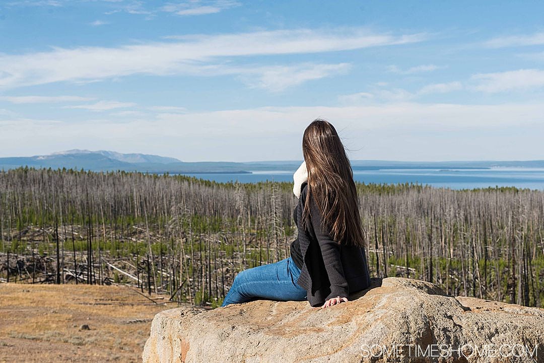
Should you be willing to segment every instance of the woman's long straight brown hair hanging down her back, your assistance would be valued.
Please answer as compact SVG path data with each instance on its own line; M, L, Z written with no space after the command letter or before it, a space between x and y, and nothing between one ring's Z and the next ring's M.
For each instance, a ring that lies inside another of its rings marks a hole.
M366 247L353 170L332 124L320 119L310 123L302 137L302 154L308 170L302 220L311 215L309 201L313 198L322 215L322 226L329 229L333 240Z

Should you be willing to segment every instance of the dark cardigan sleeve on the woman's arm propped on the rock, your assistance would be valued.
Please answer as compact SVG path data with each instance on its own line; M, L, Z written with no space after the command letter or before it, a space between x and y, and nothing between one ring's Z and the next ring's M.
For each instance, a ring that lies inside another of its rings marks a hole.
M330 230L326 226L321 226L322 215L319 212L316 202L313 200L313 198L310 199L312 226L319 242L323 262L327 270L327 276L329 276L329 282L331 283L331 293L325 298L325 300L337 296L347 298L349 296L349 286L344 277L344 268L340 258L340 245L338 242L332 239Z

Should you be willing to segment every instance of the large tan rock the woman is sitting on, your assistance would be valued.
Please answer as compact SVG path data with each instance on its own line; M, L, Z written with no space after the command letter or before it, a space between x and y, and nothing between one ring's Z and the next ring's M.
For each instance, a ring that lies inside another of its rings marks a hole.
M544 362L544 309L451 297L420 280L372 283L325 309L258 300L160 312L144 363Z

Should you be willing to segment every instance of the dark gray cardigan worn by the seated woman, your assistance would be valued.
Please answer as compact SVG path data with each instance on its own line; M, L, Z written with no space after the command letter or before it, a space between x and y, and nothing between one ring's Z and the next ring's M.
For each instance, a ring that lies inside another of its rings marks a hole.
M329 230L321 226L321 214L313 198L310 198L311 218L308 218L305 230L302 211L307 184L301 185L296 208L298 242L304 260L296 282L307 291L311 306L321 306L332 297L348 297L350 293L367 289L370 273L363 247L339 244L332 240Z

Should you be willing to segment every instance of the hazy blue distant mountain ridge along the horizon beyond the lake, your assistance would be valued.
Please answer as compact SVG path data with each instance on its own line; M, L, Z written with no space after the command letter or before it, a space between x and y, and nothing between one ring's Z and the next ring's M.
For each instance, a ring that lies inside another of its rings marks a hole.
M115 151L89 151L72 149L49 155L33 157L0 158L0 170L9 170L21 166L35 168L67 168L90 171L137 171L149 173L251 173L291 171L294 172L302 160L268 160L250 162L197 161L184 162L176 158L159 155ZM380 169L424 169L424 168L491 168L491 167L534 167L544 168L544 160L511 161L394 161L394 160L351 160L354 171Z

